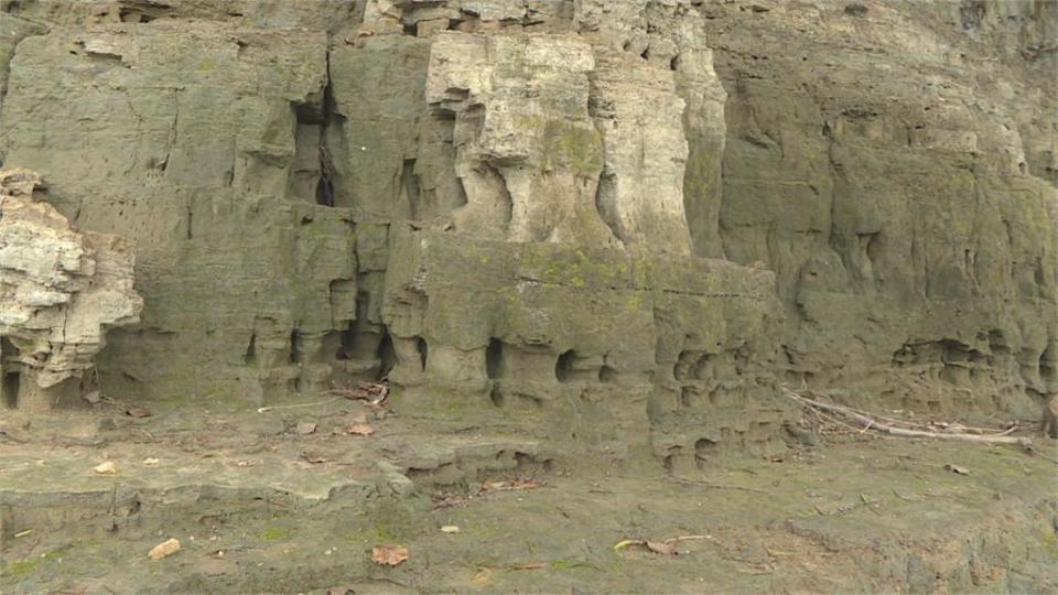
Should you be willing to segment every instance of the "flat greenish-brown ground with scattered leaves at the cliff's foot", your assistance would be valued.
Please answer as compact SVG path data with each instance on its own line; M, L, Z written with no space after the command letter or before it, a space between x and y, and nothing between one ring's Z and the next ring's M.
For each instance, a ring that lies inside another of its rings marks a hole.
M3 419L0 592L1058 592L1058 465L1013 446L839 436L673 478L348 401L151 413Z

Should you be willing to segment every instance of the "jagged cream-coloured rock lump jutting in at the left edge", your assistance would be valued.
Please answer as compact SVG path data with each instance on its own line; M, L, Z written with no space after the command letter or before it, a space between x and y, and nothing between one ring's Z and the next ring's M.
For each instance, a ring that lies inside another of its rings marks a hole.
M90 369L107 329L139 322L143 307L132 289L131 246L72 229L34 196L41 185L34 172L0 170L0 370L8 403ZM17 392L12 376L36 387Z

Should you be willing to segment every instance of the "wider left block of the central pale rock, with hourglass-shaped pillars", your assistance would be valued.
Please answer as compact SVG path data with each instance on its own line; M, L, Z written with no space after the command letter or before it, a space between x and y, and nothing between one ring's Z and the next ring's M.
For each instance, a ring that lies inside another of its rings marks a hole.
M616 245L595 209L603 167L587 113L591 46L571 36L443 33L427 101L455 113L467 204L456 229L512 241Z

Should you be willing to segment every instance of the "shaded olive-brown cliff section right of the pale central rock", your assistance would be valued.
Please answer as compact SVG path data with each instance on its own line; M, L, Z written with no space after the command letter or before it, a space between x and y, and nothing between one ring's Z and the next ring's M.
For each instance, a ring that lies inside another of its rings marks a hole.
M702 7L730 94L719 242L776 271L788 380L1035 415L1058 382L1058 4L758 4Z

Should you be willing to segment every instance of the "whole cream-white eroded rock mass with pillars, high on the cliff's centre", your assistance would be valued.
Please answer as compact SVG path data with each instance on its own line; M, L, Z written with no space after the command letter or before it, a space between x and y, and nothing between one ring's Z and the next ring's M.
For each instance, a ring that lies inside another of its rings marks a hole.
M649 43L644 60L572 34L439 34L425 94L456 116L456 229L689 255L679 47Z

